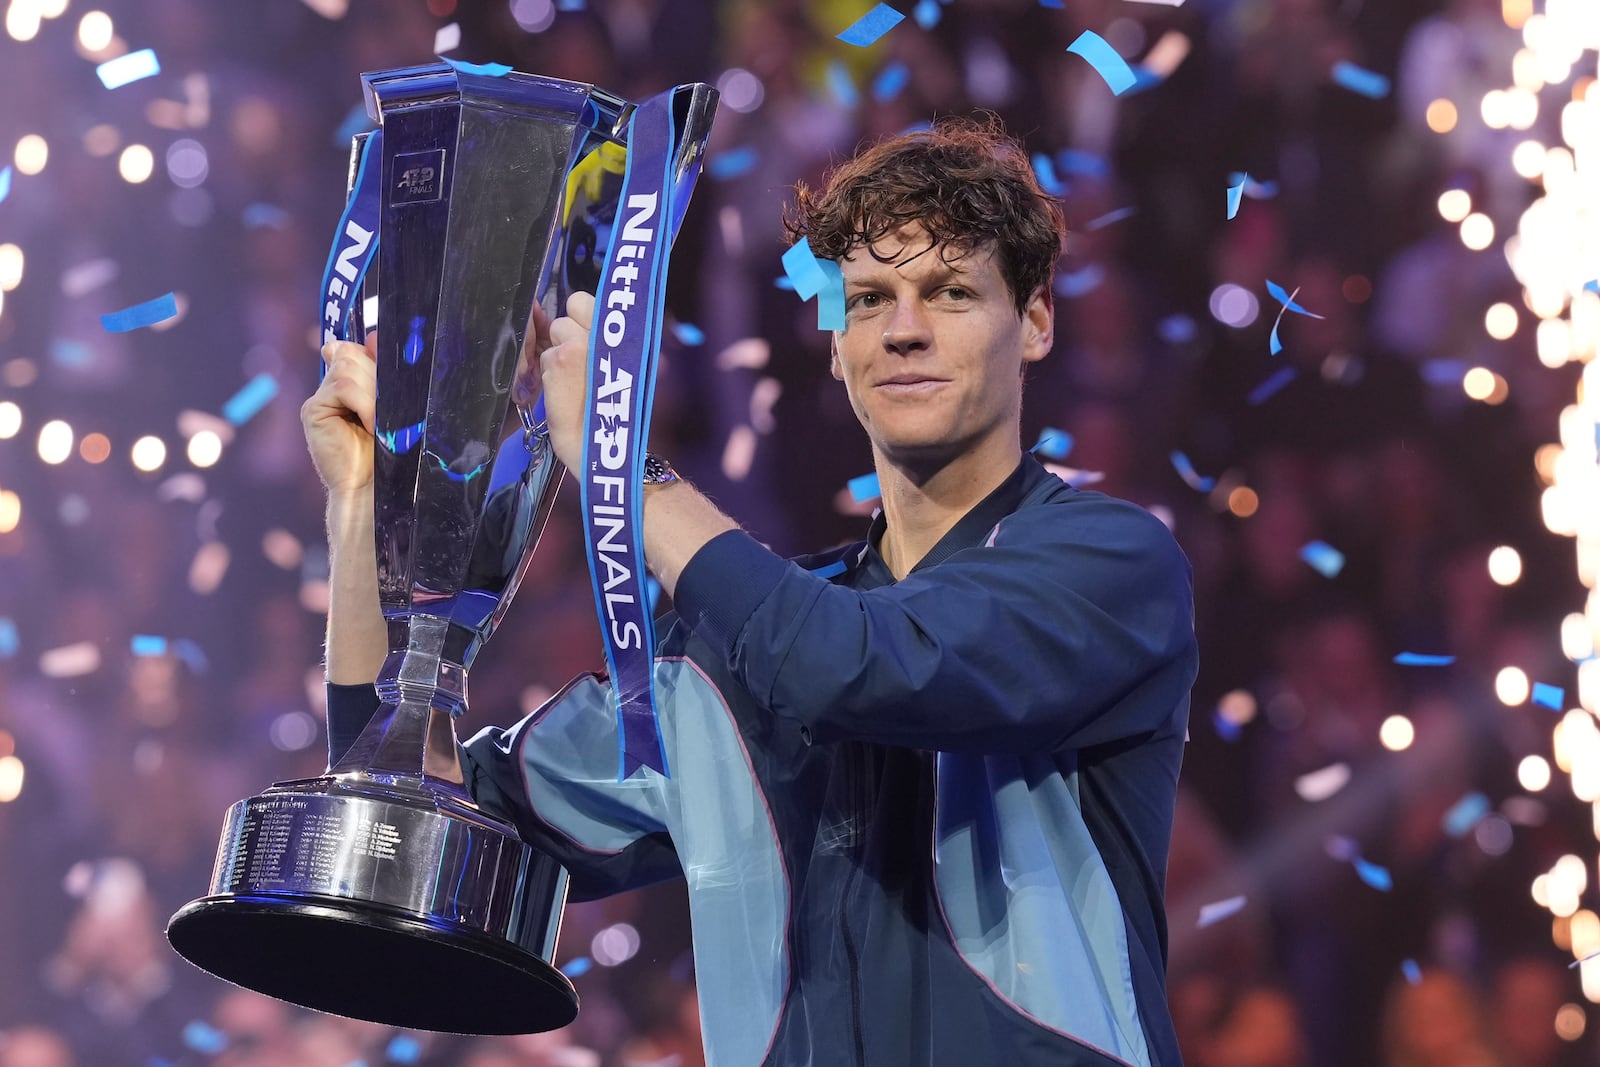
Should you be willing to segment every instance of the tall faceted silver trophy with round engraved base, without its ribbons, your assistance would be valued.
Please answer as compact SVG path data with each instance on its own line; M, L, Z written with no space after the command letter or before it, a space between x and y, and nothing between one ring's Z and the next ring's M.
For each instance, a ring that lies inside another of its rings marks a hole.
M560 483L542 427L525 413L518 424L510 403L531 307L595 290L634 104L446 64L362 80L382 133L365 290L382 326L381 705L323 776L227 811L210 893L166 933L202 969L307 1008L456 1033L549 1030L578 1013L552 966L566 872L472 801L453 723ZM675 224L717 94L686 85L670 101Z

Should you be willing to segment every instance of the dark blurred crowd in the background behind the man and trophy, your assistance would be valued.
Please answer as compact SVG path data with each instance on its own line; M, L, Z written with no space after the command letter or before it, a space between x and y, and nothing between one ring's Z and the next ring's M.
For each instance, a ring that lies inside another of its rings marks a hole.
M157 50L158 77L104 90L77 5L0 40L0 144L50 142L0 202L0 242L26 254L0 312L0 400L24 413L0 440L22 509L0 531L0 757L26 768L0 792L0 1067L702 1062L675 885L568 909L558 961L582 1011L526 1038L288 1008L162 936L203 894L227 805L323 768L322 499L298 422L315 288L365 128L357 75L435 48L632 99L723 90L672 261L656 450L784 552L859 537L872 509L845 488L870 454L827 336L774 285L787 189L864 139L1000 115L1072 227L1026 443L1070 437L1051 461L1162 515L1195 571L1168 880L1186 1061L1595 1062L1600 1017L1528 891L1563 853L1594 854L1590 816L1560 781L1518 782L1555 717L1494 685L1518 667L1573 688L1557 625L1582 590L1539 523L1534 466L1573 374L1541 366L1528 330L1486 336L1483 309L1517 304L1517 283L1434 206L1466 189L1510 232L1534 195L1509 170L1515 138L1475 120L1518 46L1499 0L901 0L912 18L869 48L834 37L862 0L99 6L128 48ZM459 43L435 37L450 26ZM1083 30L1144 58L1136 90L1114 96L1066 51ZM1392 91L1339 85L1341 61ZM1440 98L1461 112L1443 134L1424 123ZM179 141L200 146L202 181L160 165ZM149 181L118 176L134 142L155 152ZM1278 320L1267 280L1315 317ZM101 328L170 290L176 323ZM1504 392L1467 398L1467 366ZM186 462L179 427L216 422L262 373L277 398L219 462ZM42 462L46 419L106 434L110 459ZM146 434L168 442L158 470L126 462ZM600 664L576 530L568 501L474 669L462 734ZM1312 566L1310 542L1338 565ZM1496 545L1520 553L1512 584L1490 576ZM1381 741L1392 717L1410 745ZM1306 787L1336 765L1339 787ZM1462 827L1470 795L1485 811ZM634 952L600 952L618 929ZM362 981L360 960L306 966Z

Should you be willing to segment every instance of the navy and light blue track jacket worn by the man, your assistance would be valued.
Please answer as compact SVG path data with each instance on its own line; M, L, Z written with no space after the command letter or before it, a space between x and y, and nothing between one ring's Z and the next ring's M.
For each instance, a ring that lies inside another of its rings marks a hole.
M466 744L474 797L576 899L686 880L712 1067L1178 1067L1187 560L1030 456L898 582L882 530L694 555L656 662L670 779L616 781L584 675ZM330 688L334 721L374 707Z

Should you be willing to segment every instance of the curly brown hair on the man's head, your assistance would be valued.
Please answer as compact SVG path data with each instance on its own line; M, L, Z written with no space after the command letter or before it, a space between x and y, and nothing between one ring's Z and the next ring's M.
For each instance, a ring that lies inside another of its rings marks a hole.
M920 224L946 262L990 243L1018 315L1050 285L1066 238L1061 205L1034 178L1027 150L1000 120L941 118L835 166L821 192L795 184L784 211L792 242L808 237L822 259L843 259L907 222Z

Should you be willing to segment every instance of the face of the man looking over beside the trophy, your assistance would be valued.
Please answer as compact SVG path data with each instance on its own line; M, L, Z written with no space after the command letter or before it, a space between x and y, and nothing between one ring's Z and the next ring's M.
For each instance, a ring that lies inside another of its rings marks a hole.
M944 262L907 226L840 262L845 330L834 378L880 462L942 467L973 456L1016 462L1022 366L1050 352L1054 310L1040 290L1022 315L995 248Z

